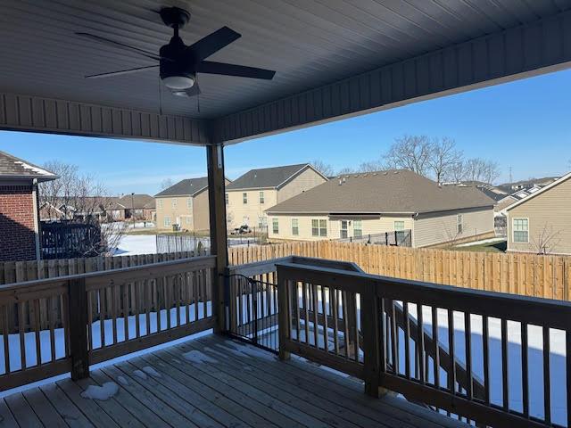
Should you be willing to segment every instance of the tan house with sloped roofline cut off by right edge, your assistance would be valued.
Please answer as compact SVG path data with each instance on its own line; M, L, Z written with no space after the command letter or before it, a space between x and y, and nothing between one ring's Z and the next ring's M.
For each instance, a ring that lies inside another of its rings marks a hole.
M508 251L571 254L571 172L505 212Z

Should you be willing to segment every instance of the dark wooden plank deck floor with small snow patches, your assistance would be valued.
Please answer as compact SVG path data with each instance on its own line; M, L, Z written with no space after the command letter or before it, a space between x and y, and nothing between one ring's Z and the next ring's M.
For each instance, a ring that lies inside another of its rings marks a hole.
M106 400L81 396L114 382ZM0 400L0 426L467 426L402 399L371 399L360 383L301 359L210 335Z

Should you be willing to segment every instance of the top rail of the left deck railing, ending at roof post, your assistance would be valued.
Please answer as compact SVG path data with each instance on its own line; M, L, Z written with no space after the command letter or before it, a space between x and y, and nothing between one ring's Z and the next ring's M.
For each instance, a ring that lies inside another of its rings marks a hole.
M150 270L156 269L167 269L167 270L180 270L179 268L185 266L201 266L203 268L214 268L216 264L216 257L215 256L199 256L199 257L190 257L187 259L177 259L177 260L169 260L169 261L161 261L159 263L151 263L147 265L140 265L140 266L132 266L129 268L118 268L118 269L111 269L111 270L100 270L96 272L89 272L84 274L76 274L76 275L68 275L68 276L56 276L54 278L46 278L46 279L35 279L32 281L25 281L21 283L12 283L12 284L4 284L0 285L0 292L11 291L11 290L21 290L24 288L29 287L37 287L46 284L60 284L65 283L70 280L77 280L77 279L86 279L89 280L91 278L107 278L109 276L128 276L129 274L133 274L135 272L147 272ZM172 269L170 269L172 268Z

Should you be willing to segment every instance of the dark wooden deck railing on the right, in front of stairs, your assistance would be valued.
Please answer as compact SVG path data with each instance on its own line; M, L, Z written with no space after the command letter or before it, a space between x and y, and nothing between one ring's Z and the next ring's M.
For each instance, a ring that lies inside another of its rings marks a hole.
M571 426L568 303L295 263L277 278L281 358L480 425Z

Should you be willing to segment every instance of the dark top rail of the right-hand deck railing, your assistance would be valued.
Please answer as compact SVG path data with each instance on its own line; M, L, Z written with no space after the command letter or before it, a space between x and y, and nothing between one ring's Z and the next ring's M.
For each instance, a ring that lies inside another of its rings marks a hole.
M359 292L358 290L363 289L367 284L373 284L377 295L386 299L418 302L426 306L488 317L509 317L514 321L562 330L571 327L571 302L567 301L503 292L468 290L451 285L430 284L294 263L278 263L277 267L288 279L314 281L315 284L331 285L352 292Z

